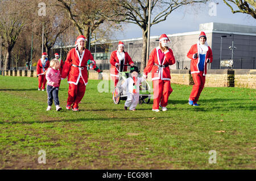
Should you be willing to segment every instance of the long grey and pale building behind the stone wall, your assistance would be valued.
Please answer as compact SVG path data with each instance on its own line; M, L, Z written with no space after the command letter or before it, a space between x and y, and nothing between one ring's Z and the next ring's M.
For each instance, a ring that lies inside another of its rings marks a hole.
M199 31L167 34L171 41L170 48L173 50L176 59L176 64L172 65L171 69L190 69L190 60L187 58L187 53L191 45L197 43L201 31L206 33L207 43L213 52L213 62L209 64L209 69L256 69L256 26L226 23L204 23L200 24ZM150 37L150 52L159 45L159 36ZM135 64L140 65L142 38L120 41L125 44L125 51L130 54ZM118 42L119 40L92 44L90 51L96 63L108 65L110 54L117 49ZM232 59L232 48L233 64L230 61ZM57 52L59 49L59 47L56 49ZM65 56L63 60L65 60ZM105 67L108 68L108 66Z

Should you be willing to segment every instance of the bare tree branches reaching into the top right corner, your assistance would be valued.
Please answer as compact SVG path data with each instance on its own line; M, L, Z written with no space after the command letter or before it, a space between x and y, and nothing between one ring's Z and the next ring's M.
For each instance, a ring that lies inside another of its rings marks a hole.
M242 12L256 19L256 0L223 0L233 13ZM237 10L235 8L238 8Z

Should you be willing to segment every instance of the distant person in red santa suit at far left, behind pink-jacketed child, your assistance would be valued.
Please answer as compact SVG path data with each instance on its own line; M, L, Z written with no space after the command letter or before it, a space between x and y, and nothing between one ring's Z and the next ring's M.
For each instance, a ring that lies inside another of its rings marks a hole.
M36 65L36 73L38 74L38 90L40 91L42 87L42 91L46 89L46 70L49 68L49 61L47 60L47 53L42 53L42 58L38 60L38 64ZM43 85L43 86L42 86Z

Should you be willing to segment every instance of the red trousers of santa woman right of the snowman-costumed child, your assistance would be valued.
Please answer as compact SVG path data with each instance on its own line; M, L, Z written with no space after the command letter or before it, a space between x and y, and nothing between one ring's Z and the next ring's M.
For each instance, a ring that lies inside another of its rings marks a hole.
M154 102L152 109L159 109L159 103L161 106L166 107L168 104L168 98L172 92L171 82L163 80L154 80L152 82L154 90Z

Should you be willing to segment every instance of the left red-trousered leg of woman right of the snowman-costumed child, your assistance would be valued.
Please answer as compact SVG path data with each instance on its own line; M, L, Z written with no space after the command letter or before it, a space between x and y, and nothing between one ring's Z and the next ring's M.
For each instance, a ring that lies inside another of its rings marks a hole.
M154 101L153 101L153 110L159 109L159 103L163 95L163 81L155 80L153 82L153 90L154 90Z

